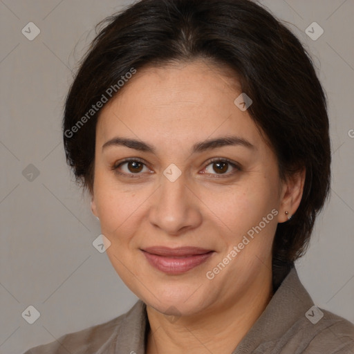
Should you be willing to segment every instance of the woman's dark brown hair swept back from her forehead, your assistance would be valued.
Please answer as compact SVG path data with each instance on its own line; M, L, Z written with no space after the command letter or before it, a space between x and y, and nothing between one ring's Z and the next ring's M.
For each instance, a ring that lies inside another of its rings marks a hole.
M64 146L77 180L92 192L100 109L90 109L102 95L115 97L118 81L132 68L202 57L237 75L253 101L248 112L277 155L281 178L306 168L299 208L277 226L273 264L304 254L329 192L330 139L326 96L297 37L249 0L142 0L99 25L66 97Z

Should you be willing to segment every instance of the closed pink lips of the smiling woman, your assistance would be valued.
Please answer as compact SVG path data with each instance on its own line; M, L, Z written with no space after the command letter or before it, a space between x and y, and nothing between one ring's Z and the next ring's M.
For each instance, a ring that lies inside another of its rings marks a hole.
M181 274L205 262L214 251L197 247L167 248L162 246L142 250L153 267L167 274Z

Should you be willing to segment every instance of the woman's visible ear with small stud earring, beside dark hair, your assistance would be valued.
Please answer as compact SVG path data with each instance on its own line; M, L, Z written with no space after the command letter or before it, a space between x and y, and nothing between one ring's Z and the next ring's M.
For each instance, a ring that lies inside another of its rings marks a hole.
M306 177L305 167L286 177L281 187L278 223L288 221L300 205ZM288 214L286 214L288 212Z

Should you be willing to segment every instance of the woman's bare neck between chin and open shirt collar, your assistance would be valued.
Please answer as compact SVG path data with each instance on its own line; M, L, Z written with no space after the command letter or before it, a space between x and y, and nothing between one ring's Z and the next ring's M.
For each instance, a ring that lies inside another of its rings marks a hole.
M150 330L147 354L232 353L272 298L272 273L259 273L252 286L237 301L230 299L203 313L167 317L147 306Z

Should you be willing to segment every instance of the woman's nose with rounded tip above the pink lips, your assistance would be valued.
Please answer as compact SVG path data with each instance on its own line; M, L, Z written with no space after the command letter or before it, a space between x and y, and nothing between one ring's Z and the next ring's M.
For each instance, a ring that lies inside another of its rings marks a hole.
M149 221L165 234L179 236L201 225L201 201L181 174L174 182L164 175L151 202Z

